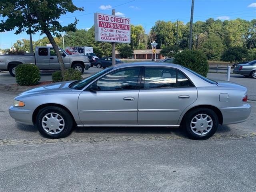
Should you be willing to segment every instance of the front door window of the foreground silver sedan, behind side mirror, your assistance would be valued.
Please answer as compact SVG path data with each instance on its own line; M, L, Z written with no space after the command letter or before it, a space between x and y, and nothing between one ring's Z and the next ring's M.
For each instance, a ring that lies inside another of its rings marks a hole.
M97 82L99 90L131 90L135 89L140 68L126 68L112 72Z

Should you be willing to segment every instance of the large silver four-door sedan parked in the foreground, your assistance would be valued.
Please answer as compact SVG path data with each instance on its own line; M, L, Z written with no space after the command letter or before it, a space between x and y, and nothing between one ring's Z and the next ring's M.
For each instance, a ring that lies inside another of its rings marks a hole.
M183 127L192 139L207 139L218 124L245 121L247 89L215 82L176 64L133 63L108 67L84 80L60 82L14 98L10 116L34 125L48 138L63 138L73 126Z

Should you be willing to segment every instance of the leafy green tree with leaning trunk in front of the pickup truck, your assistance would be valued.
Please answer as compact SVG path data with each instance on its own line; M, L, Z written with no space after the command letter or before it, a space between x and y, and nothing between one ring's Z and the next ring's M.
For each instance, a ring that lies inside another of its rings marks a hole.
M58 36L60 32L75 31L76 18L75 22L68 26L62 26L58 19L66 12L84 9L76 7L72 0L0 0L0 4L0 15L5 18L0 22L0 32L17 28L15 34L24 31L27 34L35 32L46 34L57 54L62 77L64 77L64 62L51 32Z

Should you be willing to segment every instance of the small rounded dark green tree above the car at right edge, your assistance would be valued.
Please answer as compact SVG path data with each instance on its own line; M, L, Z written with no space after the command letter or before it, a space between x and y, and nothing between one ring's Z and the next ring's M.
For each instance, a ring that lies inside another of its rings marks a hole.
M248 56L248 50L243 47L230 47L222 55L223 61L242 62Z

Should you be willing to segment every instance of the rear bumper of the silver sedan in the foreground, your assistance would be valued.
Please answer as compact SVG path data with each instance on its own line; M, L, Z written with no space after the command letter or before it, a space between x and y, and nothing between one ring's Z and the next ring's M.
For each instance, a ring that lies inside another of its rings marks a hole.
M219 109L223 116L223 125L244 122L251 113L251 106L248 103L244 103L243 106L240 107L225 107Z

